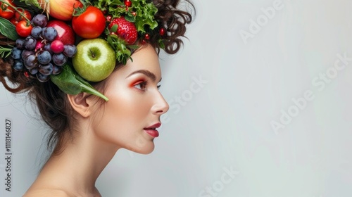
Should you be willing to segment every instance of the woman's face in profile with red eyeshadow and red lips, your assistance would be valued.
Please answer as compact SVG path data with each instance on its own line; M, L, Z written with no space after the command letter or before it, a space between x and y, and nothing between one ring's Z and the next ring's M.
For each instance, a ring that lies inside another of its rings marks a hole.
M156 127L169 106L158 91L161 68L155 49L142 46L132 59L108 77L109 101L97 107L92 127L99 139L146 154L153 151Z

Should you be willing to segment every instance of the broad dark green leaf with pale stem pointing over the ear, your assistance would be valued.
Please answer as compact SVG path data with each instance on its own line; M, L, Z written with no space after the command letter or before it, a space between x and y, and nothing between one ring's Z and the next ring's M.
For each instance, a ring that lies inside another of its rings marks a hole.
M66 94L80 94L87 92L103 98L108 101L108 98L94 89L91 84L78 75L70 65L63 65L63 71L58 75L50 75L51 82L56 84Z

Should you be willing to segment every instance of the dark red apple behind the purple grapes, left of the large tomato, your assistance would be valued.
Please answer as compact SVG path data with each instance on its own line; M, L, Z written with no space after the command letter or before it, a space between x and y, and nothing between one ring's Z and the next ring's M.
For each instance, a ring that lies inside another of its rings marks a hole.
M62 20L50 20L46 27L54 27L58 32L55 39L60 40L64 45L75 44L75 32L73 32L73 28Z

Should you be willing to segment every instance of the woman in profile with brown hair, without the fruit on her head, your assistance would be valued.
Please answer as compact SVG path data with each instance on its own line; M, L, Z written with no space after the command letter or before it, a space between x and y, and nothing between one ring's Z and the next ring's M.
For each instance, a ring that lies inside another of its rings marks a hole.
M162 38L167 53L180 49L180 37L191 22L191 14L177 9L178 3L153 1L158 8L154 18L164 26L159 32L165 30ZM24 196L101 196L96 179L118 149L153 151L168 103L158 91L160 35L151 32L149 36L137 40L139 49L132 50L125 65L118 62L106 80L90 82L107 102L85 91L66 94L52 80L39 82L13 69L11 56L0 59L4 87L13 93L28 91L53 130L48 141L52 154ZM8 86L6 78L16 87Z

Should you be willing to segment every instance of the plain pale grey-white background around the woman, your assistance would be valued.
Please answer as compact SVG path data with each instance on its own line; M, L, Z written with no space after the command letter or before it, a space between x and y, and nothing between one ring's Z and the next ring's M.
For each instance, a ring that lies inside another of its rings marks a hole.
M275 2L268 18L263 10ZM352 196L352 61L334 68L337 54L352 58L352 1L194 3L183 50L161 55L170 110L156 149L118 151L97 181L101 194ZM244 31L251 37L243 39ZM1 184L0 196L21 196L45 160L45 127L25 95L0 91L1 127L13 120L13 191ZM284 128L275 132L272 121ZM1 159L1 175L4 165Z

